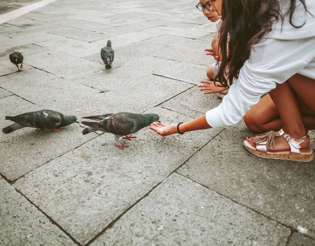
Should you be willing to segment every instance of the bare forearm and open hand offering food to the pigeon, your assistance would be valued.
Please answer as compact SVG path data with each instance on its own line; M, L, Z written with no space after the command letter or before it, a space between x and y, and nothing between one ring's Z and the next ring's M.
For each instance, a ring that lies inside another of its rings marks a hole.
M167 125L165 123L154 122L151 125L149 125L149 128L155 131L157 134L165 137L170 134L178 133L177 125L178 123ZM181 133L208 128L211 128L211 126L209 126L209 124L207 123L205 114L197 117L196 119L179 125L179 131Z

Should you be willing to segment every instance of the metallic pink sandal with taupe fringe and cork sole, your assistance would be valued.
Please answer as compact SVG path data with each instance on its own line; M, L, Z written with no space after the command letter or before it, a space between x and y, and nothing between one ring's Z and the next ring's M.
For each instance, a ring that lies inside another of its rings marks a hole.
M268 151L269 147L275 148L275 139L282 136L290 146L290 150L285 151ZM309 162L313 159L313 150L311 147L301 149L300 144L309 138L306 133L303 137L294 139L286 134L283 129L278 132L270 131L265 134L256 135L253 142L256 147L252 146L249 141L245 140L246 149L256 156L272 159L293 160L299 162Z

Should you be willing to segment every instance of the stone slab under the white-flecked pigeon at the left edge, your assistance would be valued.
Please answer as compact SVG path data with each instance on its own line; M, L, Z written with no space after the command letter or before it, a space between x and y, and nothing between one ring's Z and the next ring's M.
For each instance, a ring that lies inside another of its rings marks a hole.
M17 107L18 105L18 107ZM0 99L2 116L0 125L9 126L13 122L4 116L15 116L42 108L15 95ZM58 108L50 108L67 114ZM82 135L78 124L65 127L60 132L36 131L35 128L23 128L9 134L1 132L0 173L13 181L22 175L42 166L49 160L74 149L93 139L97 134Z

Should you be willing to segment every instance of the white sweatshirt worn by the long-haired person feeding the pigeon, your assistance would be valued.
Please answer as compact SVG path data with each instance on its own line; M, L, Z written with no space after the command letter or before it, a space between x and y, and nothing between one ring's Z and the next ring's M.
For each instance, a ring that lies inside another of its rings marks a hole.
M281 5L287 9L289 1ZM222 103L206 112L211 127L231 126L238 123L262 94L284 83L296 73L315 79L315 0L305 0L307 10L297 1L294 24L286 16L281 30L281 20L274 23L272 31L253 46L250 57L240 70ZM315 96L315 95L314 95Z

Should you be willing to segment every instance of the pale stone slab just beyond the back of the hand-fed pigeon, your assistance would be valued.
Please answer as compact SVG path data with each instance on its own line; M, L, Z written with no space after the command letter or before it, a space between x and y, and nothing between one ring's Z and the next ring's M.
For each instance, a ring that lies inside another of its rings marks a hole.
M155 90L152 91L148 84L154 84ZM63 110L73 112L77 117L114 112L141 113L185 91L191 84L149 75L133 83L116 84L114 87L115 90L77 100Z

